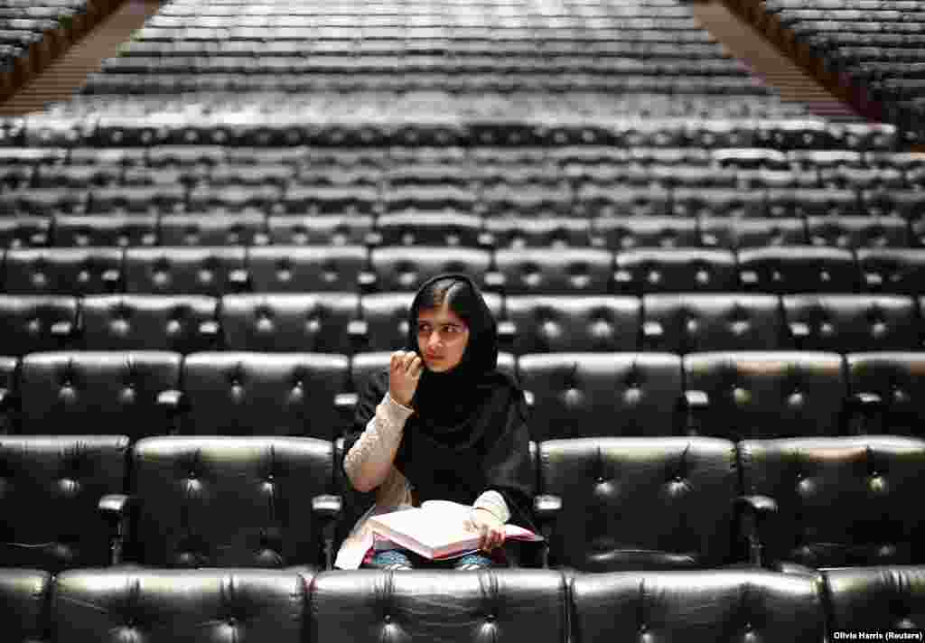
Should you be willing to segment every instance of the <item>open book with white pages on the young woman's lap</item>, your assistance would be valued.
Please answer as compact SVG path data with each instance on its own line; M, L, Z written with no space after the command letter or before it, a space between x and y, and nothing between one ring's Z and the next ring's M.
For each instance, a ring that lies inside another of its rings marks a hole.
M471 510L458 502L425 501L420 507L372 516L369 525L376 533L376 549L386 539L427 559L457 558L478 550L479 534L468 526ZM543 539L516 525L505 525L504 531L513 540Z

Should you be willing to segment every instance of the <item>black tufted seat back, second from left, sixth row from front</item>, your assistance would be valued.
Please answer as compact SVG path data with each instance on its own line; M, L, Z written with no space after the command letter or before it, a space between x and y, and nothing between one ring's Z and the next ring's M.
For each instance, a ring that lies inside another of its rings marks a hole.
M153 246L158 243L157 216L57 216L52 241L60 248Z

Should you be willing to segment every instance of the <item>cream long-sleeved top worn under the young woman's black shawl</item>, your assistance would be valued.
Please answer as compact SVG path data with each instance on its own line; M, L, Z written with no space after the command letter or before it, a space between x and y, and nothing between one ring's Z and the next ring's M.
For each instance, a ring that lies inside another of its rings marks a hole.
M413 409L402 406L386 393L376 406L376 414L366 424L360 438L344 457L344 471L358 491L376 489L376 503L353 526L344 539L335 565L341 569L355 568L372 545L372 530L366 520L379 513L399 511L412 506L412 488L407 478L395 467L395 454L401 444L401 433ZM492 513L501 523L511 517L507 502L498 491L488 489L475 502L473 509Z

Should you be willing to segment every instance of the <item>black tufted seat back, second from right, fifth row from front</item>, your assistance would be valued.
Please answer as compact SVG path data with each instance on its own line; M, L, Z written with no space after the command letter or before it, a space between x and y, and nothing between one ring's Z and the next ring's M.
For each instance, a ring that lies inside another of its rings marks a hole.
M855 292L854 255L842 248L788 246L739 253L739 278L752 291L779 294Z

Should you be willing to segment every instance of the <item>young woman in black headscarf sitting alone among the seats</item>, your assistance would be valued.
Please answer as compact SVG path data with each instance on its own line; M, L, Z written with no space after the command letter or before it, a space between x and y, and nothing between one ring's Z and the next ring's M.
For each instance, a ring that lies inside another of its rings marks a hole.
M360 511L344 547L368 542L365 519L428 500L472 506L479 551L432 563L475 569L511 562L504 524L533 528L524 392L498 370L497 325L473 280L441 275L425 282L409 313L405 350L372 377L347 436L344 472ZM386 569L425 560L401 549L369 550L364 564Z

